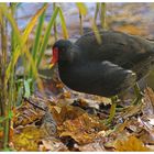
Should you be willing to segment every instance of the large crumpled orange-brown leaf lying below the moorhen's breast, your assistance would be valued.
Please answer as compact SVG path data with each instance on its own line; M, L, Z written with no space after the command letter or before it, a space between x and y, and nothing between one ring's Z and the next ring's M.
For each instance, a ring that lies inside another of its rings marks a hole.
M61 116L64 122L57 128L59 136L72 136L79 144L91 142L98 130L105 129L96 117L88 116L78 107L65 106Z

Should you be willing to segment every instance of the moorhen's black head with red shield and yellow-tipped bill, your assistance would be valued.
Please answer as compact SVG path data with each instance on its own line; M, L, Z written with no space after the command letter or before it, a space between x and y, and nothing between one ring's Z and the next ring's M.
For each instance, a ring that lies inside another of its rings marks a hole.
M68 40L59 40L53 46L52 64L56 64L59 61L67 61L68 50L72 47L72 42Z

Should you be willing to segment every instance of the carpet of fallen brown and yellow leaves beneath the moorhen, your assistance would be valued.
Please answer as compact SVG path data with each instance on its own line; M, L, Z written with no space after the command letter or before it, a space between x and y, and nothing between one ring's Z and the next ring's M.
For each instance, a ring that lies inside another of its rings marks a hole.
M74 92L65 87L55 101L40 96L30 98L35 106L24 101L14 112L10 145L16 151L154 150L154 91L151 88L145 89L142 103L135 107L131 101L120 100L121 109L110 125L103 123L111 103L108 98Z

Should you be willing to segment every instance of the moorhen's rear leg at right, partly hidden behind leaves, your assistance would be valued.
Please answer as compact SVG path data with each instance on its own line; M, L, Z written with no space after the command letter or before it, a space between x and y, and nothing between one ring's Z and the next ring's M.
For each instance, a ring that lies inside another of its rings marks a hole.
M135 82L135 85L134 85L134 94L135 94L136 98L132 101L132 105L138 105L141 102L141 99L143 97L138 82Z

